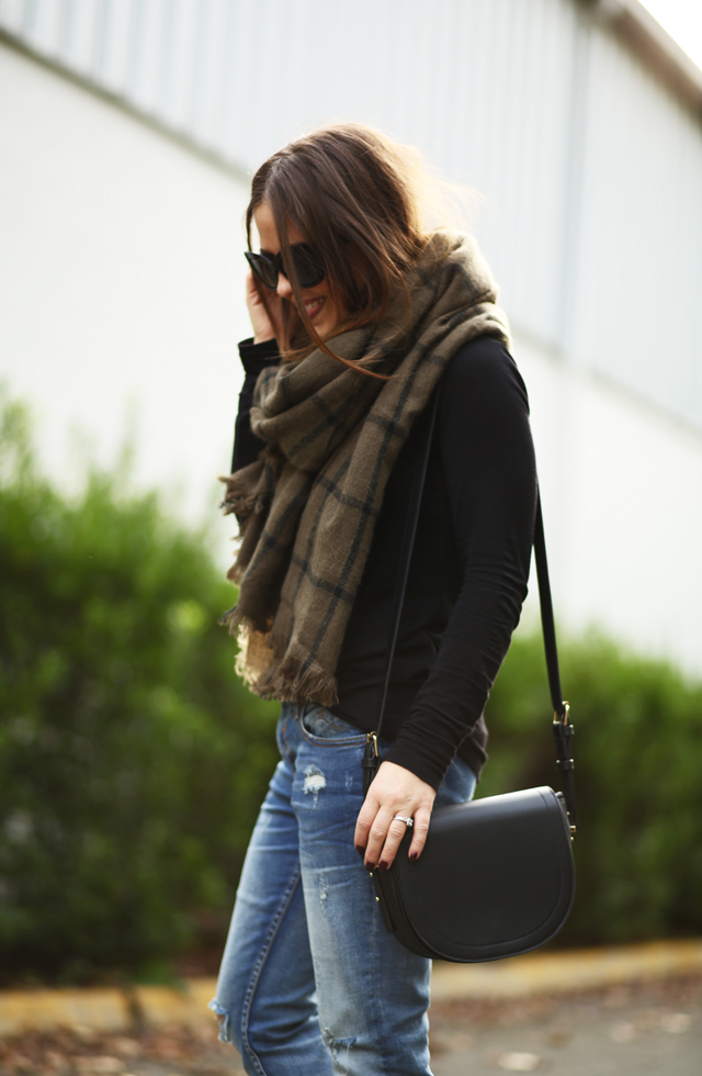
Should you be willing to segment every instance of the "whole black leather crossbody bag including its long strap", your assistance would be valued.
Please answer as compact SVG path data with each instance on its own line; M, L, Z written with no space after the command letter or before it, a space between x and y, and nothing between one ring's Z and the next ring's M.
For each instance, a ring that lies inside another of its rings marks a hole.
M424 412L419 462L410 493L390 617L385 677L376 731L363 754L364 793L381 764L383 726L393 658L417 531L439 393ZM376 900L386 929L412 953L468 964L516 956L542 945L564 924L575 894L571 840L577 826L568 704L562 700L558 654L541 513L536 503L534 553L548 685L554 708L556 766L563 794L525 788L466 804L439 807L424 849L408 856L408 827L395 861L374 871Z

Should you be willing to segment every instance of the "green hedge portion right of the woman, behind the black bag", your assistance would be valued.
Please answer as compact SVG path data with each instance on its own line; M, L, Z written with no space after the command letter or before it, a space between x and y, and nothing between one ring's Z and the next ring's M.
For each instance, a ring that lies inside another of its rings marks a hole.
M567 640L579 832L559 944L702 934L702 684L597 636ZM540 636L514 639L486 719L479 794L558 787Z

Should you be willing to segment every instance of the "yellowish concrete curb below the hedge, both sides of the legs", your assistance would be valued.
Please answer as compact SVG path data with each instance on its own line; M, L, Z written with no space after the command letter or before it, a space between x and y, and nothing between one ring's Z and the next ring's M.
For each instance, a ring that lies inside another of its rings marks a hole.
M489 964L435 963L433 1001L567 994L622 983L702 974L702 940L649 942L612 949L528 953ZM0 991L0 1035L67 1027L128 1032L135 1025L215 1021L207 1004L215 978L189 979L182 990L135 986L129 990Z

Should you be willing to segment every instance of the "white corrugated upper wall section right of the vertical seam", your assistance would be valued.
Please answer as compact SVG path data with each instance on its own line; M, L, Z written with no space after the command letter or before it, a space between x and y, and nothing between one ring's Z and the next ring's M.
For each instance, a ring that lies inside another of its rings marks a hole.
M702 422L702 131L592 41L573 354Z

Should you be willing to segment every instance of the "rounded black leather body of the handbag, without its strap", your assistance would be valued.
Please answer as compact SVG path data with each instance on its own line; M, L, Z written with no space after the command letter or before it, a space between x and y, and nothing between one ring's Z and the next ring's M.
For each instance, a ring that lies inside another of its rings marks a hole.
M410 840L407 833L389 873L412 931L445 960L526 952L570 910L570 832L547 786L438 808L415 863Z

